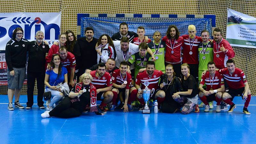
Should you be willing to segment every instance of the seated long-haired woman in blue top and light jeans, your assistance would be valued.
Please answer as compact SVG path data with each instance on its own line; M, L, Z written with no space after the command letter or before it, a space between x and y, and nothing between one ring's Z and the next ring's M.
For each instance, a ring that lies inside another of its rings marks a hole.
M52 67L52 70L47 69L44 78L44 84L46 85L45 92L51 91L52 95L52 100L46 107L48 111L51 111L53 109L53 104L55 103L55 105L57 105L63 96L63 93L56 86L61 82L68 82L68 71L65 67L61 67L59 54L52 55L50 66Z

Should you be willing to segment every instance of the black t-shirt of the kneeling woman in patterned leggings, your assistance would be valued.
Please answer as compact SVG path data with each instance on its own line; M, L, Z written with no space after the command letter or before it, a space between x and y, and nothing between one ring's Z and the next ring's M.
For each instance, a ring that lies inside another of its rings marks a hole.
M182 82L182 87L184 92L187 92L189 89L192 89L191 95L184 95L185 97L193 98L198 94L197 83L194 76L189 75L186 80L184 80L184 76L183 76L181 79L181 82Z

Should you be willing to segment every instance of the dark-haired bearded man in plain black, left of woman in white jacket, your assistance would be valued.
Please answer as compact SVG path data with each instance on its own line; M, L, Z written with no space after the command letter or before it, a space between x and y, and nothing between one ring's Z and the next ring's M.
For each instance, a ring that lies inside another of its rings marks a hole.
M75 48L78 50L77 56L79 57L77 61L80 63L77 77L81 76L86 68L91 68L93 65L97 64L95 46L98 39L93 37L94 31L92 27L87 27L84 33L85 37L78 38L75 45Z

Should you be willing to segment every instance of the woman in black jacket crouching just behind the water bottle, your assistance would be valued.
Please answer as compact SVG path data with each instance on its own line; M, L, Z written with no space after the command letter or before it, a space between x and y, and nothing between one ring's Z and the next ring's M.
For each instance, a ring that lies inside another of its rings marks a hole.
M160 89L165 92L165 99L162 102L161 110L163 113L175 113L179 111L180 104L173 100L172 95L176 92L182 92L183 88L179 77L175 76L173 66L167 64L165 73L160 79Z

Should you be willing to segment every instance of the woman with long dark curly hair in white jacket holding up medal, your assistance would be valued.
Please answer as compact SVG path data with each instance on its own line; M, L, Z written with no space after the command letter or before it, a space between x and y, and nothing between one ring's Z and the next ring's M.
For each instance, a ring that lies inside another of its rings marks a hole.
M107 35L103 34L100 36L98 43L96 44L96 51L98 53L98 63L106 63L109 58L115 59L115 50L112 39Z

